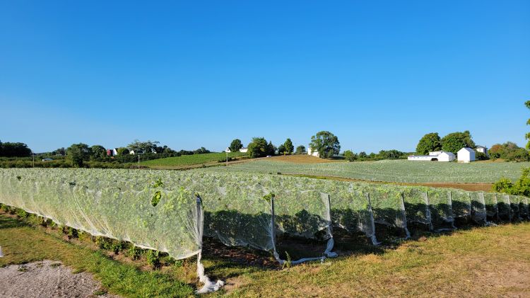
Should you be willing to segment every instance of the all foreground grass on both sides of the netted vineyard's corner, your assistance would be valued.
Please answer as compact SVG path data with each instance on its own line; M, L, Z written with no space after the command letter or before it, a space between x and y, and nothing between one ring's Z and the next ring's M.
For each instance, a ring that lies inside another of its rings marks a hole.
M194 263L143 271L0 215L0 266L61 260L124 297L192 295ZM207 256L227 286L206 297L524 297L530 292L530 223L432 234L374 248L336 239L340 258L283 270ZM181 281L179 281L181 280ZM183 281L182 281L183 280Z

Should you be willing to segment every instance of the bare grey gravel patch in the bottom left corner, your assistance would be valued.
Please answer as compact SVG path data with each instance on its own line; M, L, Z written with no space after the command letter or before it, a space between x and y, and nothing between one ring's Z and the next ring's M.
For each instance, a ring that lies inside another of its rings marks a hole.
M59 262L44 260L0 268L0 297L118 296L101 291L100 282L89 273L74 274Z

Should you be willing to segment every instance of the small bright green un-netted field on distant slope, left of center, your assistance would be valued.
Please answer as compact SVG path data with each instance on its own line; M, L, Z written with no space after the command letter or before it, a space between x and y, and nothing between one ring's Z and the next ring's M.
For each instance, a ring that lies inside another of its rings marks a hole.
M237 157L246 156L247 154L241 152L231 152L228 157L236 159ZM205 153L205 154L193 154L183 155L177 157L167 157L165 159L153 159L151 161L141 161L141 166L148 167L179 167L179 166L194 166L201 164L217 163L220 160L225 160L226 154L220 153Z

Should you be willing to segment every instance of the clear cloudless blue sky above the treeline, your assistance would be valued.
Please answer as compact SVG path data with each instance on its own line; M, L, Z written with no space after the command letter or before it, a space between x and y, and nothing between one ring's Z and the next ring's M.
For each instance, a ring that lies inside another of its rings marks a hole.
M0 1L0 139L524 145L530 1ZM153 2L153 3L151 3Z

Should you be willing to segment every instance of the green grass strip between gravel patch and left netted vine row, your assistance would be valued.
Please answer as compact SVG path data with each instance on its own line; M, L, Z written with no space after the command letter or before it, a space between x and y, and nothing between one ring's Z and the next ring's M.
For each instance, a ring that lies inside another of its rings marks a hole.
M5 255L0 258L0 267L38 260L59 260L73 268L74 272L93 273L109 292L125 297L194 295L192 285L175 280L172 275L120 263L101 251L62 241L5 215L0 215L0 246Z

